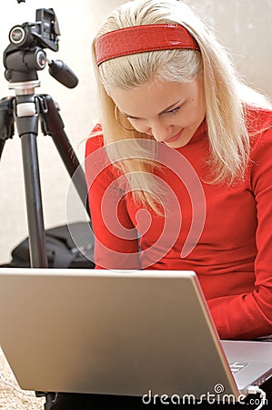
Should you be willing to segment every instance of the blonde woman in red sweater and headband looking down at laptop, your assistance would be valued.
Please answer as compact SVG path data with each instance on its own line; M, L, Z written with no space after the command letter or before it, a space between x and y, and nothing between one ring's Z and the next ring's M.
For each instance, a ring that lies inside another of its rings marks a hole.
M96 268L193 270L222 339L272 333L271 104L176 0L121 6L93 55Z

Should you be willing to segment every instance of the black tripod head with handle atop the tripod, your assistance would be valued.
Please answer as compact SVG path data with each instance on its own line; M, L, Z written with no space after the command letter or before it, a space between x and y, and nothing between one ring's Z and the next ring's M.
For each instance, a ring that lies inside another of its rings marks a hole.
M14 26L9 32L10 44L5 48L5 78L10 88L24 89L39 86L37 71L48 63L49 74L65 87L76 87L78 80L73 71L61 60L49 61L45 48L58 51L60 36L53 8L36 10L35 23Z

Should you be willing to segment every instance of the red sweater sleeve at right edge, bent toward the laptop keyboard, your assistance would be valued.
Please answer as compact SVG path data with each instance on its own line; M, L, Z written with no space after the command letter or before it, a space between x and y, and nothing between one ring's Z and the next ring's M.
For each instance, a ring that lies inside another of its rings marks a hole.
M263 133L251 158L251 190L257 204L254 290L207 301L222 339L272 333L272 128Z

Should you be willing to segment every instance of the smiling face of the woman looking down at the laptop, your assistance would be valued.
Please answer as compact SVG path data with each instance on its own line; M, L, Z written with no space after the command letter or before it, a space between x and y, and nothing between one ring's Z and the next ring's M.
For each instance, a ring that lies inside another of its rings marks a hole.
M139 132L171 148L185 146L206 116L203 80L189 83L148 82L110 95L117 108Z

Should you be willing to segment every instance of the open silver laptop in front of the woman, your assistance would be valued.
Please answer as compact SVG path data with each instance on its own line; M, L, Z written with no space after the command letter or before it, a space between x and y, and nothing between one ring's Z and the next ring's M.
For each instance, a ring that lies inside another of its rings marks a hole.
M43 392L239 400L272 374L272 343L219 340L194 272L2 268L0 345Z

